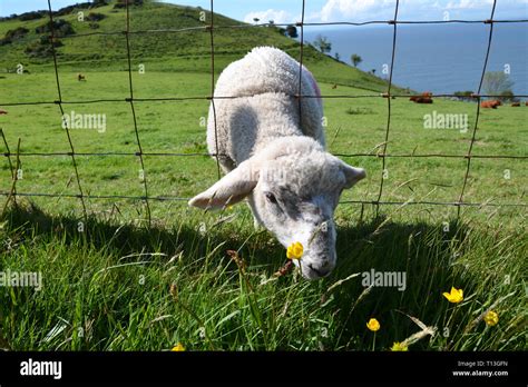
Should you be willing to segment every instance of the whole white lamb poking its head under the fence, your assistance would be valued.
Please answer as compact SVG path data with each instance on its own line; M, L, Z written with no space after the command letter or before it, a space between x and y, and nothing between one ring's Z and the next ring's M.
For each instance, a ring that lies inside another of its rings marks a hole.
M300 63L271 47L254 48L222 72L207 145L227 175L189 205L214 209L246 198L256 225L284 247L303 245L294 262L305 278L316 279L335 267L333 214L341 192L365 171L325 151L317 83L303 67L301 95L313 97L301 98L300 109L299 78Z

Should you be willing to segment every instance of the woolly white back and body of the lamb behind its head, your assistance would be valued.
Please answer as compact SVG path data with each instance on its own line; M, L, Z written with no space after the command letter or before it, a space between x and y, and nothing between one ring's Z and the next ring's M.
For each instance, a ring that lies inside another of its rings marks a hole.
M222 72L214 93L217 98L215 113L218 139L216 141L211 107L207 143L209 152L215 152L218 146L219 153L234 158L221 159L225 163L224 169L231 170L232 161L237 163L241 157L247 157L248 149L254 148L252 141L270 138L270 133L252 132L256 128L276 132L277 126L289 122L295 128L285 129L283 136L291 136L295 129L299 130L299 99L295 96L299 93L300 67L296 60L276 48L257 47ZM320 96L313 76L304 67L301 93ZM280 109L274 109L277 103ZM313 137L324 145L321 99L303 98L301 112L300 135ZM289 117L277 116L282 113Z

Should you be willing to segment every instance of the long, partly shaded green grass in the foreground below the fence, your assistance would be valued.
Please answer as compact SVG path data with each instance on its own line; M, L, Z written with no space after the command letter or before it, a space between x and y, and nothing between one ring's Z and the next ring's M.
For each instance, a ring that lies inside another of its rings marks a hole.
M247 215L218 225L217 217L188 214L150 230L94 219L79 234L76 219L13 209L3 227L10 249L3 244L2 266L41 271L43 287L0 294L4 340L23 350L166 350L176 343L192 350L371 350L365 324L375 317L375 349L385 350L420 330L407 314L438 328L411 350L526 345L520 230L505 238L467 224L452 222L444 232L412 219L354 222L339 229L336 271L310 282L273 277L284 250L270 235L253 232ZM245 272L226 249L238 251ZM365 294L361 276L339 284L371 268L405 271L407 289ZM451 286L463 288L463 302L442 297ZM472 325L501 298L493 307L498 326Z

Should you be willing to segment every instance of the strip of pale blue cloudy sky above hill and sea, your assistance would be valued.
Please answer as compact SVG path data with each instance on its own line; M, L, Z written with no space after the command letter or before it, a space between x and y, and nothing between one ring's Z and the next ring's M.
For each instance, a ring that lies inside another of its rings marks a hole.
M53 9L84 0L51 0ZM209 0L163 0L208 9ZM305 22L390 20L395 0L305 0ZM492 0L400 0L400 20L485 20ZM47 0L0 0L0 16L47 9ZM301 20L302 0L214 0L216 12L253 22ZM497 0L496 19L528 19L528 0Z

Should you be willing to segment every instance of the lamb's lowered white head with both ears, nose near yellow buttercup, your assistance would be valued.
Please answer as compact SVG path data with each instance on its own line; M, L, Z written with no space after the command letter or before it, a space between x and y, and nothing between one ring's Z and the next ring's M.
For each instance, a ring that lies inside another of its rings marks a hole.
M343 189L365 177L327 153L315 141L282 141L242 162L189 201L201 208L222 208L246 198L255 219L289 247L301 242L294 264L305 278L329 275L336 264L333 215Z

